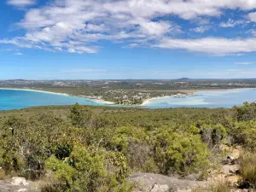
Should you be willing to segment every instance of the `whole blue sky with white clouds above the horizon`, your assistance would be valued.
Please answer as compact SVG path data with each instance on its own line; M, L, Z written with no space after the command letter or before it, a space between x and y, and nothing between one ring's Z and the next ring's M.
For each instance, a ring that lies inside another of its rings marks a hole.
M0 79L256 78L256 0L1 0Z

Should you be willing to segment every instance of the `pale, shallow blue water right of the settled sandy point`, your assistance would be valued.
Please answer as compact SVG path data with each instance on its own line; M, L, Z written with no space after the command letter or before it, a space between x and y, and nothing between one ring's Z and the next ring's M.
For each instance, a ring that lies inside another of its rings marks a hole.
M256 89L212 90L196 92L195 96L157 98L146 108L232 108L255 101Z

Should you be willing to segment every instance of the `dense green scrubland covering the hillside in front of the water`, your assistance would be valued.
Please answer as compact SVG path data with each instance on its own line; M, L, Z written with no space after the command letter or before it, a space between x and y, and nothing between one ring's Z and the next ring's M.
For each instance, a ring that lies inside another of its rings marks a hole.
M134 172L204 180L221 146L240 146L241 180L256 182L256 104L218 108L40 107L0 113L0 179L42 191L131 191ZM221 186L210 191L230 191Z

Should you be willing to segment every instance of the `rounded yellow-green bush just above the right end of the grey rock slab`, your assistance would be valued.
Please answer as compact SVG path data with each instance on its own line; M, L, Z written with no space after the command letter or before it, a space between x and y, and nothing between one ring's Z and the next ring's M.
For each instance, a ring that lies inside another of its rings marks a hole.
M201 137L160 130L154 143L154 160L160 173L179 173L205 171L209 165L207 145Z

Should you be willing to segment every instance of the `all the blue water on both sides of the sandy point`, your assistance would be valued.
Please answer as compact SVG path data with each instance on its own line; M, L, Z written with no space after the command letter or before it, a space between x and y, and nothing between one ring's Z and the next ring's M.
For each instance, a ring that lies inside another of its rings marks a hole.
M243 102L255 101L256 89L214 90L199 91L195 93L195 96L182 98L158 98L139 108L232 108L235 105L241 106ZM114 106L83 97L30 90L0 89L0 110L49 105L73 105L76 102L90 106Z

